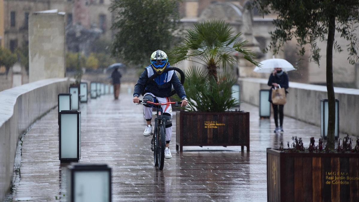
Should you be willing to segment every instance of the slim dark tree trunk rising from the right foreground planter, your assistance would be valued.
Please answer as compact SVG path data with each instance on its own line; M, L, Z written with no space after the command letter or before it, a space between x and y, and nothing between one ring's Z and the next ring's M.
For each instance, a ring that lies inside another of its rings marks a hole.
M333 43L335 35L335 16L330 18L327 41L327 92L328 92L328 149L334 150L335 144L335 94L333 83Z

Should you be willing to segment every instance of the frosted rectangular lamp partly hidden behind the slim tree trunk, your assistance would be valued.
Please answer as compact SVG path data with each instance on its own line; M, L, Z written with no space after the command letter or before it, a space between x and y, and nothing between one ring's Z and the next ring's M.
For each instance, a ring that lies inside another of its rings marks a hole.
M328 134L328 99L320 100L321 108L321 136L327 139ZM339 138L339 100L335 99L335 139Z

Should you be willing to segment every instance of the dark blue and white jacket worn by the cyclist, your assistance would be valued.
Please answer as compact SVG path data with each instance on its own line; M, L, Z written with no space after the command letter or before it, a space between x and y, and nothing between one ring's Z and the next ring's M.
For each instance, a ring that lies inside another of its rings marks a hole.
M169 67L170 66L168 65L167 68ZM180 79L178 79L176 73L174 73L174 70L169 70L168 72L158 75L152 81L149 81L145 86L148 78L154 73L155 71L151 65L146 67L135 85L134 96L139 97L143 90L145 90L145 93L152 93L156 97L170 97L173 86L177 95L181 99L187 97L185 88L183 88L183 85L181 84Z

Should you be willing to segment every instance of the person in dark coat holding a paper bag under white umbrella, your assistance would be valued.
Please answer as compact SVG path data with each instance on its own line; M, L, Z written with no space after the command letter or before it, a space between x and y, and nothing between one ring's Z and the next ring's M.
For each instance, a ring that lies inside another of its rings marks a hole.
M274 68L273 73L269 77L268 86L272 88L269 91L269 102L272 103L273 106L273 114L274 114L274 123L275 123L275 133L284 132L283 130L283 108L284 105L275 105L272 102L272 89L274 87L285 88L285 94L288 93L286 90L289 88L288 75L283 72L282 68ZM278 112L279 112L279 121L280 125L278 127Z

